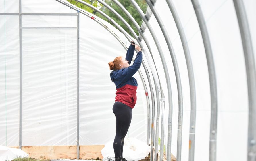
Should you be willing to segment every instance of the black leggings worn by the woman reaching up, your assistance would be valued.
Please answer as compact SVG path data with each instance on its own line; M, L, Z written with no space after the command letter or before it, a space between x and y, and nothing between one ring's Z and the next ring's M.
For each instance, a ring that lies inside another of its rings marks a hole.
M113 113L116 116L116 137L113 146L116 160L120 160L123 158L124 137L132 120L132 108L122 102L115 102Z

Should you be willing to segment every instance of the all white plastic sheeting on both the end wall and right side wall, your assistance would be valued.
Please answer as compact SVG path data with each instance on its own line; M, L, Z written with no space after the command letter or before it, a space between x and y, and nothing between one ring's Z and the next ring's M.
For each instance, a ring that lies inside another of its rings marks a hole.
M246 160L248 96L240 30L232 0L199 1L209 33L218 94L217 160ZM186 35L196 87L195 160L209 160L210 88L205 49L193 6L189 0L173 1ZM256 42L256 1L244 1L253 44ZM51 4L51 5L49 5ZM16 1L0 0L0 12L18 12ZM188 160L190 92L186 61L179 34L168 5L155 7L168 29L178 61L183 92L182 160ZM76 13L54 1L22 0L23 13ZM0 16L0 143L18 146L19 137L19 17ZM115 86L107 63L124 48L102 26L80 14L80 145L113 140L115 119L112 104ZM102 21L102 20L100 20ZM103 22L103 21L102 21ZM104 22L128 47L124 36ZM178 95L172 60L152 15L164 52L172 86L172 154L176 156ZM33 26L31 26L33 25ZM26 27L76 27L76 16L22 16ZM146 29L168 107L163 67L153 39ZM22 31L22 146L76 144L76 30ZM253 46L254 52L256 46ZM145 62L148 66L149 64ZM152 64L150 64L152 65ZM143 67L141 67L146 79ZM151 74L150 74L151 75ZM138 102L133 109L128 137L147 140L147 106L141 79ZM153 82L151 75L151 82ZM147 86L148 87L148 86ZM148 88L149 90L149 88ZM150 93L149 93L150 94ZM166 108L166 119L168 118ZM161 119L160 119L161 120ZM236 155L234 155L236 154ZM239 154L239 155L238 155Z

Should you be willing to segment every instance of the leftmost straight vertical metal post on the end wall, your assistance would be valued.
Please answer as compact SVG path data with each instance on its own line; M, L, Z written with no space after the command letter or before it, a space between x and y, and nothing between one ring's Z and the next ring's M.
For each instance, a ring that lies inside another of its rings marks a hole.
M19 0L19 14L21 14L21 0ZM19 132L19 149L22 146L22 17L19 15L20 29L20 132Z

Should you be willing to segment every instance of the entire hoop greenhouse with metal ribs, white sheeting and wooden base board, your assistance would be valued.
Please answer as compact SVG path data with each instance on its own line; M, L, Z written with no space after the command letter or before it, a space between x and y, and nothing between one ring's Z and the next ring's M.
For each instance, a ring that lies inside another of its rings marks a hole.
M140 26L112 0L134 30L97 0L132 35L74 1L109 22L66 0L0 0L2 146L34 158L103 158L116 130L107 63L134 41L143 62L126 137L147 143L151 161L164 160L164 145L167 161L256 161L256 1L145 0L144 14L127 0Z

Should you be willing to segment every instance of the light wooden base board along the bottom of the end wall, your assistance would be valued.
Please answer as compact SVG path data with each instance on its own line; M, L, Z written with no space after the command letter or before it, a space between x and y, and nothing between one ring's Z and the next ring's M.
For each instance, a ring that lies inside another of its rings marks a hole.
M96 159L99 157L102 159L103 148L104 145L81 145L79 146L79 158ZM35 159L77 159L77 146L22 146L21 149L28 153L29 157Z

